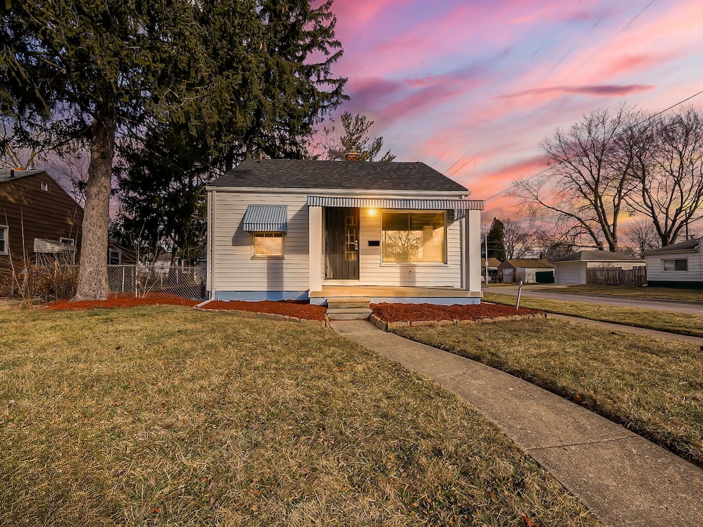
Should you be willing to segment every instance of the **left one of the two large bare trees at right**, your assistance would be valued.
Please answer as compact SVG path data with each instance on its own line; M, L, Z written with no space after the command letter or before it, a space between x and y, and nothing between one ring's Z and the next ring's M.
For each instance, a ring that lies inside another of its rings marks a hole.
M530 216L550 216L581 230L598 249L616 251L628 178L617 137L629 124L631 111L621 106L593 110L568 130L557 129L540 145L546 170L517 181L510 195Z

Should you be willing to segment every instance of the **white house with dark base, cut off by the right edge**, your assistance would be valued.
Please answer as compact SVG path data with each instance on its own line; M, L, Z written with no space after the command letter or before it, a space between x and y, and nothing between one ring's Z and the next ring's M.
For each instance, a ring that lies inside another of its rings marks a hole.
M686 240L645 252L647 285L703 288L702 240Z

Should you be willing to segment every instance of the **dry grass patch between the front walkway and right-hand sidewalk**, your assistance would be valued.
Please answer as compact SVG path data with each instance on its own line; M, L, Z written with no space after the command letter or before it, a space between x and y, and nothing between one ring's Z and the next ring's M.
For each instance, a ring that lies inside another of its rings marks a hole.
M555 319L394 332L570 398L703 467L698 346Z

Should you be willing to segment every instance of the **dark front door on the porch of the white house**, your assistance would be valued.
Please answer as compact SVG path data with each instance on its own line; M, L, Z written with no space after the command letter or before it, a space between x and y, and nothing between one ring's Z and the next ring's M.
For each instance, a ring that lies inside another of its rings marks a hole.
M325 278L359 280L359 209L325 208Z

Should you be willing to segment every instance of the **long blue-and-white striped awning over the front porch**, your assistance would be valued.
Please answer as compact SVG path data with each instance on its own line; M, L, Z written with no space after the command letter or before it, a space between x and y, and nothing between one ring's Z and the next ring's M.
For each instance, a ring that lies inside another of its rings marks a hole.
M308 196L308 207L354 207L364 209L483 210L483 200L413 200L401 197Z

